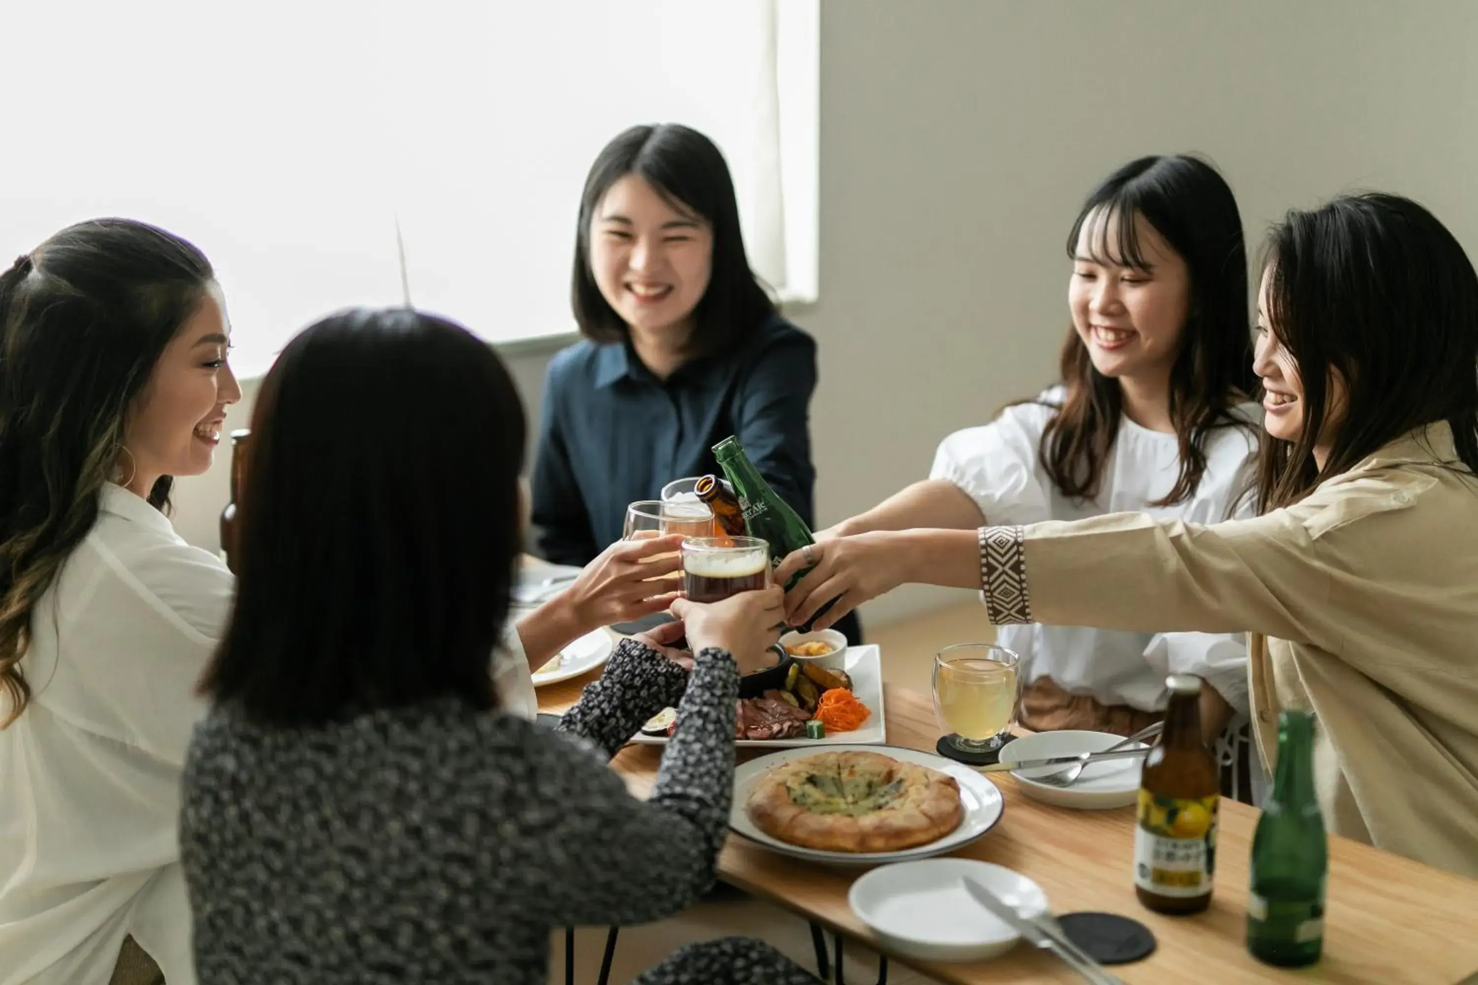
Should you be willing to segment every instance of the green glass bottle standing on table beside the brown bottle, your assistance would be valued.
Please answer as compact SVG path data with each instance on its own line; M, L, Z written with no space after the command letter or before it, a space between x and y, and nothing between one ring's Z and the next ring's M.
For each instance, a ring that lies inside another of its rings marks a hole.
M1247 950L1259 961L1302 967L1324 947L1329 839L1314 796L1314 718L1278 716L1273 796L1252 836Z

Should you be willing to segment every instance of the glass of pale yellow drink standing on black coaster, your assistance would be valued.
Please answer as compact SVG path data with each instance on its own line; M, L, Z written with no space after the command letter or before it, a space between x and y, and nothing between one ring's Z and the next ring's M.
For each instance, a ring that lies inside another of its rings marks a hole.
M934 715L946 746L983 755L1011 741L1021 697L1020 657L992 642L962 642L934 656Z

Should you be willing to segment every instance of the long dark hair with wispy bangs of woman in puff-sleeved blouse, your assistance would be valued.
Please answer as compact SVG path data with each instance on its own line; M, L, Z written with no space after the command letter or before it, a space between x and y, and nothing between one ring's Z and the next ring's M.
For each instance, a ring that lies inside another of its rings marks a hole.
M1205 161L1145 157L1110 174L1088 196L1067 236L1069 258L1077 255L1079 235L1089 223L1095 263L1148 272L1140 245L1141 223L1153 226L1185 260L1190 310L1171 368L1171 421L1181 467L1175 486L1153 505L1184 502L1206 474L1208 436L1224 427L1252 430L1231 412L1256 390L1247 328L1247 251L1237 199ZM1067 396L1042 433L1038 456L1064 496L1094 499L1119 434L1123 399L1119 382L1094 368L1073 328L1063 344L1060 369Z

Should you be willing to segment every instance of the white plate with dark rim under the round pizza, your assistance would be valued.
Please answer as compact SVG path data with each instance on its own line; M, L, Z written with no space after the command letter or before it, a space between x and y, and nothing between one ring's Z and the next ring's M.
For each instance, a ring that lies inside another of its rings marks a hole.
M959 827L944 837L930 842L928 845L906 848L899 852L822 852L814 848L788 845L777 837L770 837L755 827L754 821L749 820L749 814L745 811L745 805L749 802L749 792L754 790L754 784L760 781L760 777L763 777L770 766L779 766L780 763L791 762L792 759L816 756L822 752L882 753L884 756L893 756L902 762L912 762L921 766L928 766L930 769L939 769L940 772L953 777L955 781L959 783L959 802L964 808ZM958 763L952 759L944 759L943 756L936 756L933 753L921 753L913 749L903 749L902 746L826 746L825 749L783 749L780 752L773 752L769 756L760 756L758 759L739 763L739 768L735 769L735 802L733 808L729 811L729 828L751 842L764 845L766 848L780 852L782 855L804 858L811 862L829 862L832 865L878 865L881 862L900 862L953 852L956 848L970 845L977 837L993 828L996 821L1001 820L1002 811L1005 811L1005 800L1001 797L1001 790L996 789L996 784L990 783L990 780L970 766Z

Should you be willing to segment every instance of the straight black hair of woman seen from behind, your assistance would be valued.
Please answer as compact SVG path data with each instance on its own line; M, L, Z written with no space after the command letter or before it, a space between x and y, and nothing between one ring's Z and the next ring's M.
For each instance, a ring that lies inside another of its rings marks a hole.
M251 416L236 601L201 691L276 725L495 707L523 442L503 360L460 325L350 310L297 335Z

